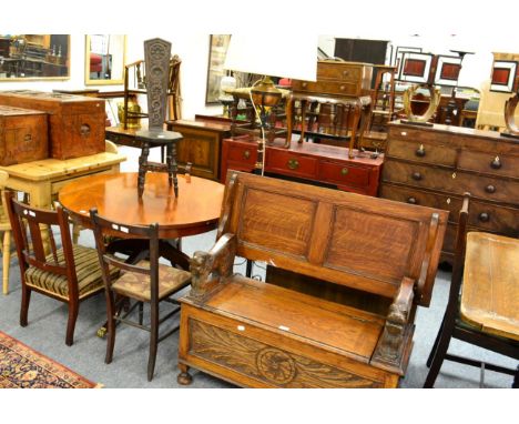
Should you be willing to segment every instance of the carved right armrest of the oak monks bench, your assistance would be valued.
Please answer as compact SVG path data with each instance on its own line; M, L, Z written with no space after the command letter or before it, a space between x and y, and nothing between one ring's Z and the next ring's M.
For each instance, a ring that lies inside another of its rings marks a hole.
M409 319L413 311L415 281L405 276L401 280L398 293L389 306L383 334L375 350L374 360L379 364L396 367L404 374L410 354L410 345L406 342L409 334Z

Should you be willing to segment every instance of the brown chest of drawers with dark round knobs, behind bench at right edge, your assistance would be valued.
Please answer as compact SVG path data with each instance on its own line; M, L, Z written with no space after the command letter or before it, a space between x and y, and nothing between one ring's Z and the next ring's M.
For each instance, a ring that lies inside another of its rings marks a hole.
M518 238L519 142L495 131L389 124L379 195L450 211L449 262L464 192L472 195L469 228Z

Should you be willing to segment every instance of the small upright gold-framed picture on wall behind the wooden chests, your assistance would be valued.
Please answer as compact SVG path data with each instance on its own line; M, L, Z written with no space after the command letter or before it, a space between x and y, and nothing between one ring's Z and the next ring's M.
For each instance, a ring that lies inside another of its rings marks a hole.
M119 85L124 83L126 36L85 36L84 84Z

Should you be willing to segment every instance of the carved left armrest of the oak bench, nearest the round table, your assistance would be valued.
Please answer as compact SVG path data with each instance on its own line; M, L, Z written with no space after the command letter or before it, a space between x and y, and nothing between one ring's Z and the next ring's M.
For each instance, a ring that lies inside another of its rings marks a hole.
M236 236L222 235L208 252L196 251L190 260L190 296L204 301L222 279L231 276L236 254Z

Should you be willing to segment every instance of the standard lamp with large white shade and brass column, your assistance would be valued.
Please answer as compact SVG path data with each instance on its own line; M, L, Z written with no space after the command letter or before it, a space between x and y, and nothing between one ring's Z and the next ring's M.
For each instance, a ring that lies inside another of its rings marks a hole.
M261 169L263 174L268 114L283 97L289 95L289 91L279 90L274 84L272 77L316 81L317 36L233 34L224 69L262 75L251 88L245 91L242 89L241 93L245 92L248 95L260 119L261 138L256 169Z

